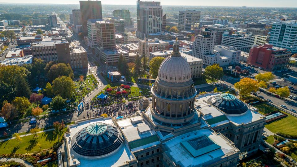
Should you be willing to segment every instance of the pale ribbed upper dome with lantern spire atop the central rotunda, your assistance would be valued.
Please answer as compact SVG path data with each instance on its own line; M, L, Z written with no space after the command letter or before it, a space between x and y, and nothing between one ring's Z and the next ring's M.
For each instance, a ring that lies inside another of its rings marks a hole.
M191 80L191 69L179 53L179 44L174 42L173 52L160 65L158 78L162 81L182 83Z

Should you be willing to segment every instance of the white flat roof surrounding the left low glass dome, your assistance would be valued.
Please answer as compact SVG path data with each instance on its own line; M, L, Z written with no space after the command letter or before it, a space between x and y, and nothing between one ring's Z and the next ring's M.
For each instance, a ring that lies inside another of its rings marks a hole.
M67 142L69 150L67 150L68 156L71 156L69 159L70 166L72 165L80 165L82 167L90 167L90 166L120 166L126 163L126 161L130 161L135 159L135 157L131 154L128 145L123 142L116 150L113 152L106 154L105 156L100 156L96 158L88 158L86 156L81 156L80 154L76 153L71 144L71 140L73 140L75 134L82 129L88 127L94 123L104 123L107 125L113 125L113 121L111 117L103 118L95 118L87 121L81 121L78 124L74 124L69 126L69 133L66 133ZM69 139L68 139L69 138ZM71 139L71 140L70 140ZM73 156L72 156L73 155ZM108 158L106 157L108 156Z

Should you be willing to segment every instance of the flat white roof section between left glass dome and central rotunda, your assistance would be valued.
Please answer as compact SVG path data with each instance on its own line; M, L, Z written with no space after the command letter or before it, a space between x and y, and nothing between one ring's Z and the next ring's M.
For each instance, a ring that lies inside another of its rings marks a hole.
M132 116L116 120L132 151L146 149L160 144L154 130L143 120L142 116Z

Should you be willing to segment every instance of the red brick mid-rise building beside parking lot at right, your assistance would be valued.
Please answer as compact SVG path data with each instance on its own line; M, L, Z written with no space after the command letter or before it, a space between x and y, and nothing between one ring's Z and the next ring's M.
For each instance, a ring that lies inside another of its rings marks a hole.
M287 67L291 52L287 49L275 47L271 44L254 46L250 49L248 64L262 67L268 71Z

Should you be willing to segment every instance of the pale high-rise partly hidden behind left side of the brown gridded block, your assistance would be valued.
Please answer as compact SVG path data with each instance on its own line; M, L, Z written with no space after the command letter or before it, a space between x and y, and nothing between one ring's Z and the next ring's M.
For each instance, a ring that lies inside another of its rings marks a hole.
M101 19L89 19L87 23L88 28L88 45L91 48L97 47L97 37L96 37L96 21L102 21Z

